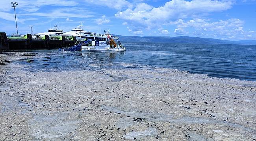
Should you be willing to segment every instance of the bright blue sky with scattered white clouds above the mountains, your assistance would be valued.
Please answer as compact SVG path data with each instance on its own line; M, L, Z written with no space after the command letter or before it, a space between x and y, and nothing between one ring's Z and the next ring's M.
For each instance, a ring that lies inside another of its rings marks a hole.
M19 34L70 31L256 40L256 0L16 0ZM0 0L0 32L16 33L11 1Z

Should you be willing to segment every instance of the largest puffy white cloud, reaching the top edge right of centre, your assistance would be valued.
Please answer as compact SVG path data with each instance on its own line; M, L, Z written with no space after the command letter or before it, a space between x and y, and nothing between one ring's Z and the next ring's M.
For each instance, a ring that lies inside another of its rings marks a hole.
M172 0L161 7L139 3L134 9L119 11L115 17L125 20L132 27L140 27L141 30L152 29L179 18L196 17L204 13L230 9L231 5L230 1L217 0Z

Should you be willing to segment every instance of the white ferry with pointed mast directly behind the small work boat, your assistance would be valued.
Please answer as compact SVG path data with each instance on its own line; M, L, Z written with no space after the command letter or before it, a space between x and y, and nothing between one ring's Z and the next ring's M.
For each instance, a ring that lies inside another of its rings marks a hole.
M63 33L62 36L76 36L76 40L91 40L91 35L95 35L95 33L84 31L83 23L81 22L77 28L72 29L69 32Z

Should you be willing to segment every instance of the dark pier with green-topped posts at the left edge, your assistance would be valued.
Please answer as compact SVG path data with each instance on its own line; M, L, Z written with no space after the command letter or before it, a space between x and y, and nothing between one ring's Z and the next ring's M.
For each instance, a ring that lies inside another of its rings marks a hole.
M2 50L26 50L26 49L52 49L59 47L70 47L76 42L76 38L65 40L65 36L60 39L51 40L48 35L41 39L32 39L31 34L24 37L8 38L6 33L0 33L0 53Z

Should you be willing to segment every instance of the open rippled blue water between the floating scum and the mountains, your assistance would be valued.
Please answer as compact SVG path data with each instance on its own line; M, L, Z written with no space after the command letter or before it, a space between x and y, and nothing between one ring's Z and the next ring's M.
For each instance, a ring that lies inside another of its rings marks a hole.
M124 43L126 52L24 52L28 71L164 67L220 78L256 81L256 45ZM127 64L127 65L124 65ZM132 64L132 65L129 65Z

